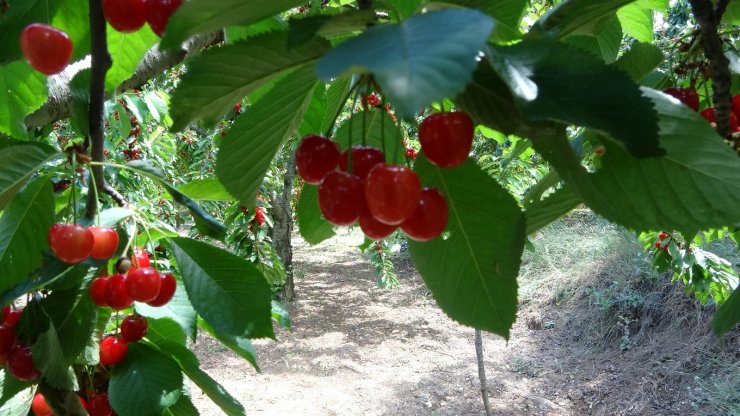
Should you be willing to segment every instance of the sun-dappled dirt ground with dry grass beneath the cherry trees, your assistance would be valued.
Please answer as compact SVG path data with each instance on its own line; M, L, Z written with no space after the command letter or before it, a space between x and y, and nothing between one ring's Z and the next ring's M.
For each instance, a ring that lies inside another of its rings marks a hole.
M437 308L410 264L396 265L399 289L375 288L371 265L353 247L361 241L345 232L316 247L295 241L293 332L255 342L261 373L202 335L204 370L248 414L484 414L473 330ZM694 328L651 331L648 318L640 345L621 352L619 343L593 345L575 309L522 306L508 344L484 334L493 413L703 414L686 373L710 347L694 342ZM196 387L193 398L201 414L222 414Z

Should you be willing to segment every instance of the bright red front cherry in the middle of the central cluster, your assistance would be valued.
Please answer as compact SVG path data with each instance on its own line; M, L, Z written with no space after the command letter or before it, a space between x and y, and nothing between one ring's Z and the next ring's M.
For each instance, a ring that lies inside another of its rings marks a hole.
M375 165L365 180L365 201L380 222L400 225L419 205L421 182L411 169L385 163Z

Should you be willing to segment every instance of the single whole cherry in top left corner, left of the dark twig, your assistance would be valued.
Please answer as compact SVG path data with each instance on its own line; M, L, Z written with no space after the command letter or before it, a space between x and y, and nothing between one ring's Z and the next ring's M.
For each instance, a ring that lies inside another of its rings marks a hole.
M55 27L32 23L21 32L21 51L33 69L54 75L72 59L72 40Z

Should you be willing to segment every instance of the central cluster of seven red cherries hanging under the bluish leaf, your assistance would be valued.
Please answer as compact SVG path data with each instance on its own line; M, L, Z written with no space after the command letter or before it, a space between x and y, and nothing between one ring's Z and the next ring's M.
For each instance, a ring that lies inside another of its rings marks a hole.
M458 166L470 153L473 127L463 112L433 114L419 128L421 150L436 166ZM352 146L351 152L340 153L335 142L311 134L298 145L296 167L303 180L319 185L321 213L334 225L359 221L373 240L384 239L400 227L417 241L432 240L447 226L448 207L442 193L422 189L408 167L385 163L381 149Z

